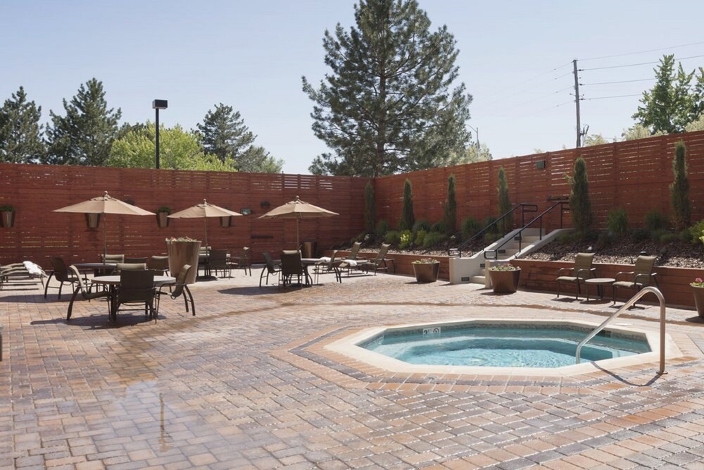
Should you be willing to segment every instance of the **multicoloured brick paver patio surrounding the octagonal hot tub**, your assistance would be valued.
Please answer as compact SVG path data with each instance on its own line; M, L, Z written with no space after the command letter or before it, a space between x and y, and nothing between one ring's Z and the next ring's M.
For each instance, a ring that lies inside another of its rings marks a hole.
M2 469L703 469L704 323L668 309L683 356L567 378L394 376L325 350L348 331L472 317L601 322L607 301L494 295L403 276L278 290L198 283L196 314L0 291ZM658 308L619 319L657 330Z

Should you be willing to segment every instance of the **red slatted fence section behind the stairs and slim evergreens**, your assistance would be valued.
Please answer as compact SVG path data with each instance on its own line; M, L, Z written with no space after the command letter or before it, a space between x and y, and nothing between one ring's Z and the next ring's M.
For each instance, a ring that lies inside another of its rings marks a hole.
M447 179L456 178L458 228L464 218L480 221L498 215L498 169L503 167L508 180L511 202L537 204L541 211L553 200L567 197L570 185L565 174L572 175L574 160L582 156L589 176L589 196L596 225L603 227L611 209L622 207L631 228L643 224L648 211L657 209L670 214L670 184L674 143L683 140L687 147L692 220L704 218L704 132L651 137L614 144L568 149L510 159L435 168L375 180L377 218L396 226L403 206L403 183L413 184L413 209L416 220L431 223L443 216L447 198ZM569 214L565 223L570 226ZM551 228L559 225L559 214L546 221Z

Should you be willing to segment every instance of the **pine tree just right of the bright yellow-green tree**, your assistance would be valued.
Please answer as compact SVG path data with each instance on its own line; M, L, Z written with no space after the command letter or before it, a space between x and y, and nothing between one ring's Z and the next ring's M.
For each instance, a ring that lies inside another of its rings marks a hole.
M223 163L228 159L233 161L237 171L281 173L284 162L254 145L256 135L244 125L239 111L234 111L232 106L216 104L197 127L206 153L217 156Z

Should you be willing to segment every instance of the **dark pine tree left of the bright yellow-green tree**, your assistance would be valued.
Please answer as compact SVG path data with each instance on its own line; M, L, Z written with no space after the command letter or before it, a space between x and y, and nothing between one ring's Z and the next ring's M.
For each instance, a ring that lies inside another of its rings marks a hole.
M103 82L93 78L81 85L70 102L63 100L66 116L49 111L46 129L49 153L44 163L102 166L118 134L122 111L108 109Z

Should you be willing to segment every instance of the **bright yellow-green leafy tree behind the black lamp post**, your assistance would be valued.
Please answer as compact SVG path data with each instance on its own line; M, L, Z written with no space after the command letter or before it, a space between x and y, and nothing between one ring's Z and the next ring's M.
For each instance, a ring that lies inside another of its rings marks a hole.
M113 142L106 166L122 168L154 168L156 154L156 125L146 123L127 130ZM234 171L232 161L220 161L214 155L203 153L199 135L183 130L180 125L159 129L159 161L161 168L172 170Z

